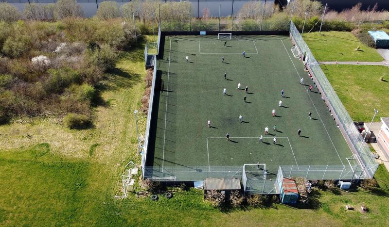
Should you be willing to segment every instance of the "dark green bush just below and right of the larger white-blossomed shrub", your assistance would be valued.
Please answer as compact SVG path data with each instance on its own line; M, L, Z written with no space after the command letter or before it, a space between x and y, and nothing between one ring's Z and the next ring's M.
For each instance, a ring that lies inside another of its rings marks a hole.
M72 83L80 81L78 72L71 68L49 69L50 77L44 81L44 90L50 93L60 93Z

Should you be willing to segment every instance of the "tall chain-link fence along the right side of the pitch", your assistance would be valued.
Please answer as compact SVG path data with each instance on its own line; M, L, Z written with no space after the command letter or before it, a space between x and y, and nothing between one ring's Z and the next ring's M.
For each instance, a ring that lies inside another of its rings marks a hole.
M360 173L361 178L372 178L375 171L378 168L378 164L374 161L371 151L368 146L364 146L363 136L354 126L354 122L350 115L347 113L345 107L336 95L334 88L327 80L320 65L316 61L315 57L311 53L308 45L303 40L300 32L297 30L293 22L290 22L290 36L292 41L296 43L297 48L301 53L301 57L305 57L307 67L311 70L313 77L318 83L318 87L322 90L322 95L328 100L328 104L333 110L333 114L340 122L339 128L345 136L349 146L351 146L353 153L359 160L360 166L362 166L362 172ZM353 149L354 148L354 149ZM367 174L368 176L363 177L362 175Z

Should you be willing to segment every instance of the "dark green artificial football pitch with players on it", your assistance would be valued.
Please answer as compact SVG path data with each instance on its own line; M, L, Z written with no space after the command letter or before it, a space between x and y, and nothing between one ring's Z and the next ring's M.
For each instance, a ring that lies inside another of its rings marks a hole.
M166 36L163 45L148 166L174 174L258 162L268 170L348 165L352 152L318 89L307 91L315 85L288 36L233 36L227 46L217 36Z

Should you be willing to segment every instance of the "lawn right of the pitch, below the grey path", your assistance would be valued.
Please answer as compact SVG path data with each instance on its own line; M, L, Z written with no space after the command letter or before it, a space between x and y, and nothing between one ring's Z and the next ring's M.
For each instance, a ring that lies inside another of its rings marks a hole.
M375 121L389 116L389 90L387 66L373 65L321 65L336 94L355 121L370 122L374 108L378 109Z

